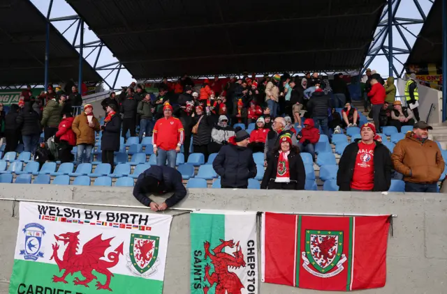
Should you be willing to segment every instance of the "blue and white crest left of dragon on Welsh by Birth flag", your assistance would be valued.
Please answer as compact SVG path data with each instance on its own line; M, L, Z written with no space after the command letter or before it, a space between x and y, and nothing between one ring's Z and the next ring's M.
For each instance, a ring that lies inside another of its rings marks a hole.
M31 261L43 257L41 244L45 228L41 224L31 223L26 224L22 231L25 234L25 244L23 245L24 249L20 250L20 255L23 255L25 260Z

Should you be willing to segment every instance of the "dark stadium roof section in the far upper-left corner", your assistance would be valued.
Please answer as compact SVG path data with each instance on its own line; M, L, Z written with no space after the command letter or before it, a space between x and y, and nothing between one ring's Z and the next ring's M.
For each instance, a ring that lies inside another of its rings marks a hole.
M0 3L0 84L2 86L43 84L45 80L45 36L47 20L29 0ZM50 24L50 82L78 80L79 53ZM85 82L101 76L83 63Z

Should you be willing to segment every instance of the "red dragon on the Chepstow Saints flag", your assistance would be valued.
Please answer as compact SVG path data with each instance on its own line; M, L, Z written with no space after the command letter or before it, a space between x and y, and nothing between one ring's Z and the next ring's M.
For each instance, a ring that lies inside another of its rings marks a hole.
M214 272L210 275L210 265L205 265L205 277L203 281L208 281L210 287L216 283L216 294L241 294L240 289L244 288L239 277L234 272L230 272L230 268L240 268L245 267L247 264L244 261L244 254L242 254L242 249L239 246L239 242L235 245L233 240L221 241L221 245L212 249L214 255L210 252L210 242L205 242L205 259L210 256L211 263L214 265ZM234 248L236 246L236 251L233 255L222 252L224 247ZM203 287L203 293L207 294L210 287Z

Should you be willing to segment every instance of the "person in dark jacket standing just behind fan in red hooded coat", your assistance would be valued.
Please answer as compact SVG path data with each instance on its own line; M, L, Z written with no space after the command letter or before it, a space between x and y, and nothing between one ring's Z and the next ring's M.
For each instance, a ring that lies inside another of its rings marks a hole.
M311 117L314 118L315 127L318 129L321 126L323 134L329 137L328 109L332 109L332 106L330 105L330 96L326 95L321 88L317 88L315 92L312 93L309 102L307 102L307 110L310 111Z

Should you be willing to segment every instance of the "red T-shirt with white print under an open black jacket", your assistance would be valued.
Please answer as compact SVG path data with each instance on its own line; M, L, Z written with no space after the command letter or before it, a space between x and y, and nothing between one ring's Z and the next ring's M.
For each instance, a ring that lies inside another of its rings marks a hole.
M374 148L376 144L358 144L358 153L351 181L352 189L371 190L374 188Z

